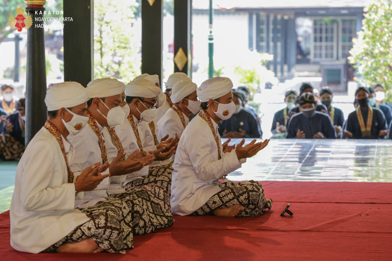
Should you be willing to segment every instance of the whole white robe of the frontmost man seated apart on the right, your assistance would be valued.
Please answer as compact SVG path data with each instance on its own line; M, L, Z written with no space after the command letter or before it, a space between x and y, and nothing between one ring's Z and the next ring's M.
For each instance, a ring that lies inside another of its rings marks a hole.
M212 121L212 119L211 119ZM218 135L222 158L218 160L218 147L211 129L199 115L185 128L178 143L173 163L171 183L171 211L189 215L220 191L214 184L219 178L239 169L241 163L236 151L223 153L218 124L212 121Z

